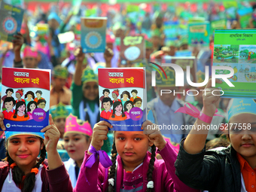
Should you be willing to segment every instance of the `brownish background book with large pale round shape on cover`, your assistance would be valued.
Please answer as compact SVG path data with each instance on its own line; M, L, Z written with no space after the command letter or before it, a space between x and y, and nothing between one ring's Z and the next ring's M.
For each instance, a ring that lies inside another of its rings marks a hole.
M126 36L120 41L121 64L126 61L139 61L145 58L145 38L144 35Z

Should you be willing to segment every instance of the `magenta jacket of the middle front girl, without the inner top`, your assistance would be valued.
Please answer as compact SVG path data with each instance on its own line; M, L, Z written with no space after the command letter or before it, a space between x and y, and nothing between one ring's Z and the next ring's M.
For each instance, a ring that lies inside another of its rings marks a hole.
M190 187L187 187L186 184L181 182L178 177L175 175L174 163L177 159L176 152L171 148L167 143L165 148L161 151L157 151L162 157L163 160L155 160L154 163L154 172L153 172L153 181L154 181L154 190L156 192L160 191L180 191L180 192L199 192L200 190L195 190ZM108 190L108 179L105 179L105 168L99 164L99 160L96 160L96 163L93 164L91 168L86 168L84 166L87 161L89 154L85 151L84 162L81 165L80 174L78 176L78 181L76 184L74 192L84 192L84 191L107 191ZM143 162L143 192L147 189L147 172L148 164L151 159L151 154L145 156ZM120 156L117 156L117 181L116 190L120 191L122 180L123 180L123 163ZM85 177L86 176L86 177ZM87 178L87 182L86 181ZM104 183L103 183L104 182ZM102 184L103 183L103 184Z

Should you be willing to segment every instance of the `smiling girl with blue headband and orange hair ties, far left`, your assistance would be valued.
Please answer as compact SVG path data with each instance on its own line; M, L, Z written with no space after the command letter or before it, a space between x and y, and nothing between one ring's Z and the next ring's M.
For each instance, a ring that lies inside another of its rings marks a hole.
M0 113L0 126L6 130L3 117ZM0 165L0 190L72 192L69 175L56 151L59 132L51 117L49 120L50 125L41 133L5 132L7 154ZM44 160L46 151L48 161Z

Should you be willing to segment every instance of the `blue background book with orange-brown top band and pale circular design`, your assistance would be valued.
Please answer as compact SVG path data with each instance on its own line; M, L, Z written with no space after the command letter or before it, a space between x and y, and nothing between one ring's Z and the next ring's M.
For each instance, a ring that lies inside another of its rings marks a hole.
M103 53L105 51L105 32L107 17L81 18L81 46L84 53Z

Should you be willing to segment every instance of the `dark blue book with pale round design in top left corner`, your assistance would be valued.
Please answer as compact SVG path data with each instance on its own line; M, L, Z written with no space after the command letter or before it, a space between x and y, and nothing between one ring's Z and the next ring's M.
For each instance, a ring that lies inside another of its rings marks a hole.
M10 42L14 39L13 35L20 32L23 14L22 8L0 2L0 39Z

